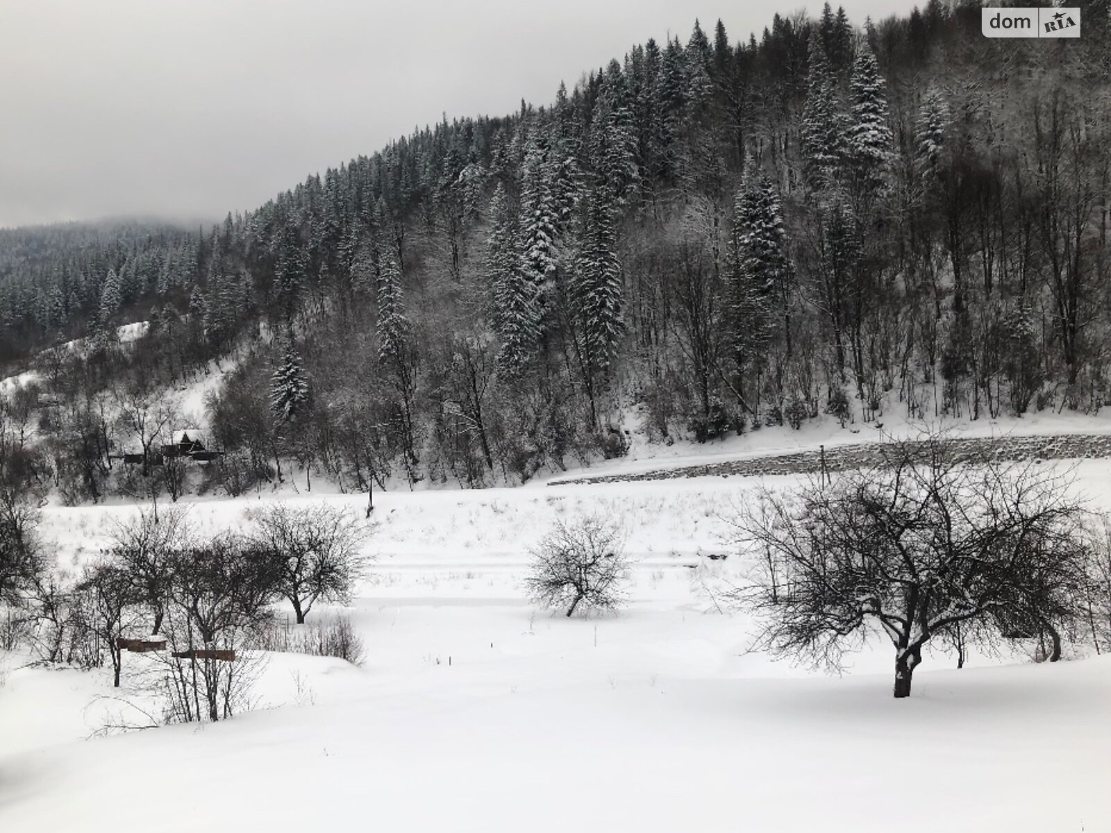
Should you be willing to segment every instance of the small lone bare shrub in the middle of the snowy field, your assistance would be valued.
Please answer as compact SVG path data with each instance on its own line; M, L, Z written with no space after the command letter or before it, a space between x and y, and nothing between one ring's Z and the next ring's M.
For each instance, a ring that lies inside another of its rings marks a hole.
M532 550L524 585L529 599L544 608L580 605L617 610L624 602L629 566L624 533L600 515L557 521Z

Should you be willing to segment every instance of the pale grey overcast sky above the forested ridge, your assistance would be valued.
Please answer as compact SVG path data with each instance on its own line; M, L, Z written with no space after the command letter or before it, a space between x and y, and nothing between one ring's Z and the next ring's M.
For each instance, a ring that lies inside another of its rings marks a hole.
M843 0L853 23L911 0ZM837 3L834 3L837 6ZM216 220L418 124L542 104L797 0L0 0L0 227Z

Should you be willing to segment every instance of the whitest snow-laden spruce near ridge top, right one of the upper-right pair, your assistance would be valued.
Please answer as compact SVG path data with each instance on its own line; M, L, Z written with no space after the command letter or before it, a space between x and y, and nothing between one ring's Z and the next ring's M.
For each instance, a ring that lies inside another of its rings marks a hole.
M859 187L871 191L884 182L894 155L894 139L888 124L887 82L868 38L861 38L857 47L849 88L852 94L847 137L849 157Z

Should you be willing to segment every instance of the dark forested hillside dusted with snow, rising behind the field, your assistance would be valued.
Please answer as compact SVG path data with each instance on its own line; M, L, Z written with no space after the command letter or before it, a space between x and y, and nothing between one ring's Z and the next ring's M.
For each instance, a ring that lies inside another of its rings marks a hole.
M162 393L218 365L200 488L232 494L294 462L350 490L522 482L624 453L633 412L659 441L1094 412L1111 32L1081 6L1080 40L987 39L939 0L695 23L210 230L0 231L0 367L41 371L3 404L3 474L97 500L140 489L113 463L139 451L177 498L173 466L146 476L182 421Z

